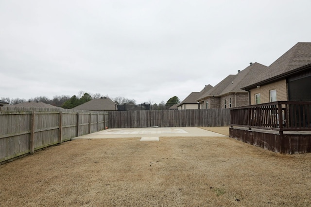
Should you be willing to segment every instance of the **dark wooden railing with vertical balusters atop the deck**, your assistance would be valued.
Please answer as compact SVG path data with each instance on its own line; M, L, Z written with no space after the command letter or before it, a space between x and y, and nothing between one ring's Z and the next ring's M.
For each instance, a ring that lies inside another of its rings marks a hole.
M311 131L311 101L278 101L230 110L230 126L279 131Z

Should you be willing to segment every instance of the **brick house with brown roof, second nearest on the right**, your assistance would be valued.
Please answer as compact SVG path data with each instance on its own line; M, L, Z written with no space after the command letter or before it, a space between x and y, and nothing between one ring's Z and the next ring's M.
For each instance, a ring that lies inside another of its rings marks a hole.
M265 68L259 63L238 70L236 75L228 75L216 86L197 99L201 108L231 108L249 104L249 94L241 87L258 76Z

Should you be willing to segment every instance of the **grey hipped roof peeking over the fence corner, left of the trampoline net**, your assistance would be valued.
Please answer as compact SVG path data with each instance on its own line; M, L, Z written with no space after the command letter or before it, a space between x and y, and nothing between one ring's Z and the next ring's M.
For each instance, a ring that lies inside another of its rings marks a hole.
M102 97L100 99L93 99L72 109L87 111L116 111L117 104L107 97Z

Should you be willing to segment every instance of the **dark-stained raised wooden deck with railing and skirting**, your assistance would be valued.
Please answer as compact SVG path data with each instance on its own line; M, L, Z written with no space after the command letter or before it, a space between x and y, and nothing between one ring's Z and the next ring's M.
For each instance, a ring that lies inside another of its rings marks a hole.
M281 154L311 153L311 102L233 108L229 137Z

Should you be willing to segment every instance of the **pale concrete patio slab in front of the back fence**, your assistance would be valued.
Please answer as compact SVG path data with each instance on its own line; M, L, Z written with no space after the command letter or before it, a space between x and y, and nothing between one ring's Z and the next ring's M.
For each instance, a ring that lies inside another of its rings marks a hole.
M141 137L227 137L198 127L159 127L107 129L79 138L141 138Z

